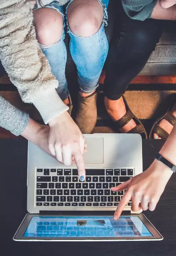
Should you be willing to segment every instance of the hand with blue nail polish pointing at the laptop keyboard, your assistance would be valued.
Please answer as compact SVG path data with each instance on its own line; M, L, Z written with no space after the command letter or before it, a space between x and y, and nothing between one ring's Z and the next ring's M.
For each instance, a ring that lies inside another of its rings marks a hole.
M49 151L65 165L71 165L73 157L80 180L85 180L83 153L86 145L80 129L67 111L52 119L49 126Z

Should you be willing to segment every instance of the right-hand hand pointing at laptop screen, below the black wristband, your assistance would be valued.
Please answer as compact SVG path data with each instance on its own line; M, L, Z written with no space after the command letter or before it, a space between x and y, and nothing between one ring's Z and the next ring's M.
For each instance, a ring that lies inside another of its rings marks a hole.
M114 219L119 218L130 199L132 199L132 211L138 212L140 209L145 211L148 208L153 211L172 173L163 163L155 160L145 172L111 188L112 191L126 189L114 213Z

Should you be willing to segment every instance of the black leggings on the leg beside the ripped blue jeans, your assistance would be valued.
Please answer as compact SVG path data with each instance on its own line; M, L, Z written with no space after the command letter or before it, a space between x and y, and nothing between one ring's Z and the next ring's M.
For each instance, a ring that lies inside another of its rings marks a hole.
M111 100L119 99L132 79L144 68L163 30L160 20L133 20L124 12L121 4L116 10L119 11L116 13L119 18L114 26L104 81L105 95Z

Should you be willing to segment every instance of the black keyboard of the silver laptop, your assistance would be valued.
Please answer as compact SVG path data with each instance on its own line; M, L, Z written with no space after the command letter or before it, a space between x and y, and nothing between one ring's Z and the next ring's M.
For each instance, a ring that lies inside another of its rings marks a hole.
M115 207L124 191L110 188L133 176L134 168L86 169L85 181L80 181L77 169L37 168L36 206Z

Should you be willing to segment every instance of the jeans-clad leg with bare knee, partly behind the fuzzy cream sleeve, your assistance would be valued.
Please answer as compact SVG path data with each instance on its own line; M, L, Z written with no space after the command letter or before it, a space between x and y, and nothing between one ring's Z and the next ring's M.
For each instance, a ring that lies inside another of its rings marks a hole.
M49 60L52 73L57 78L59 86L57 93L65 104L69 104L65 65L67 51L64 43L64 25L62 6L51 3L45 8L34 9L34 25L41 50Z

